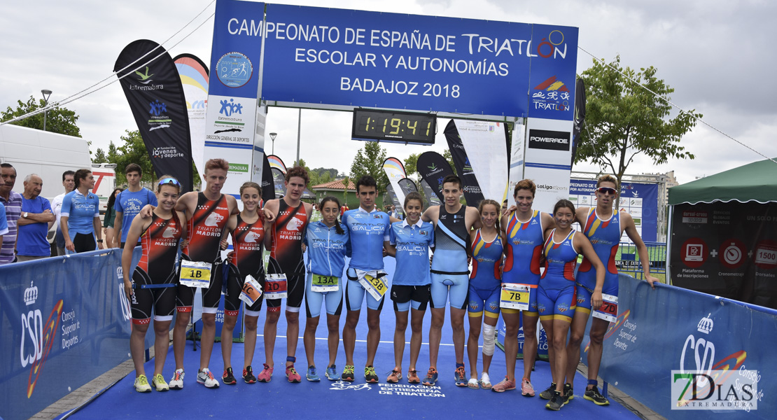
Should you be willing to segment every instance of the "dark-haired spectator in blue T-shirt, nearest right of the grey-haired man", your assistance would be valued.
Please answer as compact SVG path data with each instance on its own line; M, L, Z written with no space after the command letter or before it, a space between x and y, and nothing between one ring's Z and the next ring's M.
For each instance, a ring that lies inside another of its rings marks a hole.
M104 249L103 229L99 221L99 197L89 193L95 177L89 169L78 169L73 175L75 189L64 196L60 227L68 254ZM95 238L96 237L96 238Z

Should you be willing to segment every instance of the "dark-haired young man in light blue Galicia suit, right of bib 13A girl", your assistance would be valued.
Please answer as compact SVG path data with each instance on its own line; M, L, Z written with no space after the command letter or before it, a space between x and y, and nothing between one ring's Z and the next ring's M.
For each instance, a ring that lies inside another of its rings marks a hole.
M348 314L343 327L343 349L345 349L346 366L342 379L354 380L354 347L356 345L356 326L361 314L361 302L364 285L371 289L367 294L367 366L364 368L364 378L368 383L378 382L378 375L372 363L378 352L378 342L381 340L381 309L383 296L389 285L385 283L383 271L383 248L389 245L389 215L375 210L375 197L378 195L378 184L370 175L364 175L356 182L356 193L359 196L359 208L348 210L343 215L343 223L350 231L352 257L346 271L348 282L346 286L346 305ZM375 298L374 293L380 299Z

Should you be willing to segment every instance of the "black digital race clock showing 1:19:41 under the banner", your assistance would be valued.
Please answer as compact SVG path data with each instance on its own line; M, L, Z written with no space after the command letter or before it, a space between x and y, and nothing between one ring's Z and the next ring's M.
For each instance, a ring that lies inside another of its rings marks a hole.
M430 113L406 113L381 109L354 109L355 140L434 144L437 117Z

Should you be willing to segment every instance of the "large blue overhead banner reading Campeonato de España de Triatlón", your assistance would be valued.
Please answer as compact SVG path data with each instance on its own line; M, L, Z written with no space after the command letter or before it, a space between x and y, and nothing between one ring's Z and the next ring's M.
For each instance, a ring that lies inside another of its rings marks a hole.
M266 36L262 99L573 118L577 28L275 4L266 12L265 22L234 16L216 34L256 45ZM540 105L519 93L537 86Z

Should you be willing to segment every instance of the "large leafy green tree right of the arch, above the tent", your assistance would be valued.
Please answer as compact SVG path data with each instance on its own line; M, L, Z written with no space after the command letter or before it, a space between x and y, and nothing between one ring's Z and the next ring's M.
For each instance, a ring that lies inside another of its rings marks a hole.
M656 165L666 163L669 158L695 158L685 151L680 141L702 114L692 109L690 113L681 111L669 119L672 106L660 98L669 100L674 89L656 77L657 69L651 66L634 71L621 68L620 62L620 56L610 64L594 60L593 67L581 75L586 85L586 119L575 162L591 161L611 171L620 182L626 168L640 153L649 156Z

